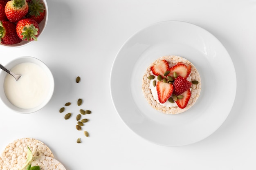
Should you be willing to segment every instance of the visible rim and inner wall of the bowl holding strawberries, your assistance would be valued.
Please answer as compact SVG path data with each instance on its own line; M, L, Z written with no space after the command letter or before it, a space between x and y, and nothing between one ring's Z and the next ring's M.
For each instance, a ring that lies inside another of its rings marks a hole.
M46 0L41 0L44 4L45 4L45 18L43 19L43 21L41 21L38 26L40 29L40 33L38 35L38 41L40 41L40 35L43 33L43 31L45 30L45 27L47 25L47 21L48 21L48 6L47 6L47 2ZM7 44L1 44L1 46L6 46L6 47L10 47L10 48L18 48L18 47L22 47L22 46L26 46L28 44L31 44L34 41L25 41L23 40L22 42L18 43L18 44L12 44L12 45L7 45Z

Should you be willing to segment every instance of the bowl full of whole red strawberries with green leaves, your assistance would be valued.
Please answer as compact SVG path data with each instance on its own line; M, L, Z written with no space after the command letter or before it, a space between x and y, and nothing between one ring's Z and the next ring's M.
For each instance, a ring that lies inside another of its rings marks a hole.
M46 0L0 0L0 45L22 47L37 41L47 20Z

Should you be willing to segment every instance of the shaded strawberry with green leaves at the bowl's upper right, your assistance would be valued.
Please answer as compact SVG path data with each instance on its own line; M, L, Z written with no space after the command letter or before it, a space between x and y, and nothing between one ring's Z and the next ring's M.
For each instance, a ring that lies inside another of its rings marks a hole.
M32 0L29 3L29 17L39 24L45 18L45 6L40 0Z

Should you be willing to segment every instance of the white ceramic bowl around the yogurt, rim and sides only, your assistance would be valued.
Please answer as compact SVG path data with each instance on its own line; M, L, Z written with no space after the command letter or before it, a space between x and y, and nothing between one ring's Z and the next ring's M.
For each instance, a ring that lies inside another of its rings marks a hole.
M5 71L2 71L2 70L0 71L0 82L1 82L0 83L0 98L2 99L2 102L6 106L11 108L12 110L15 110L18 113L33 113L33 112L36 112L36 111L40 110L41 108L43 108L52 98L52 95L54 92L54 77L52 75L52 72L49 70L49 68L42 61L40 61L34 57L28 57L28 56L18 57L15 60L12 60L8 64L6 64L5 67L7 69L11 69L14 66L16 66L17 64L24 63L24 62L31 62L31 63L39 65L40 67L43 68L47 77L49 78L49 82L50 82L49 83L50 84L49 85L49 93L46 95L44 101L39 106L36 106L34 108L28 108L28 109L19 108L19 107L13 105L4 93L4 79L8 73L6 73Z

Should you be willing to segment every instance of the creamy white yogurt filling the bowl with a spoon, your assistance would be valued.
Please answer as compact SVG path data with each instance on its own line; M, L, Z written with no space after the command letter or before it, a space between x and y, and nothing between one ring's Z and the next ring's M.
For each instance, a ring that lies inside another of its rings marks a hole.
M11 75L4 79L4 93L9 101L24 109L42 104L49 94L49 77L41 66L31 62L17 64L11 71L22 75L18 81Z

